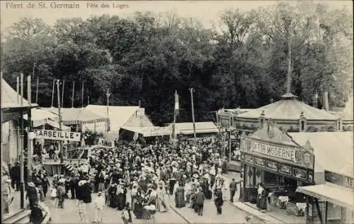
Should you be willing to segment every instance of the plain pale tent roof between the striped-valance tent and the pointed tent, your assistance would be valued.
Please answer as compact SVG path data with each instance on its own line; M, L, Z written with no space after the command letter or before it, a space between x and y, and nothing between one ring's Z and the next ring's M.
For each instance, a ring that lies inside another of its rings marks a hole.
M107 106L90 104L86 109L104 118L107 117ZM139 110L139 106L108 106L108 110L110 130L119 130Z

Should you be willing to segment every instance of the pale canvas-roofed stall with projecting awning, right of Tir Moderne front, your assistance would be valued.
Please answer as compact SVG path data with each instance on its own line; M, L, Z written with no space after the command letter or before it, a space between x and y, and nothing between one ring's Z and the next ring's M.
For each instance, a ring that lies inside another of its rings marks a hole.
M290 135L314 148L314 185L297 188L307 196L307 223L353 223L353 132Z

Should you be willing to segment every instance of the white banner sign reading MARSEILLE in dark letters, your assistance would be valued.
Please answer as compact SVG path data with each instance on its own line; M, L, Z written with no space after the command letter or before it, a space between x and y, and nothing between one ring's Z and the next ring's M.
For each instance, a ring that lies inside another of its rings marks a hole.
M35 138L65 140L72 142L79 142L81 140L81 133L74 133L64 130L34 130L34 133Z

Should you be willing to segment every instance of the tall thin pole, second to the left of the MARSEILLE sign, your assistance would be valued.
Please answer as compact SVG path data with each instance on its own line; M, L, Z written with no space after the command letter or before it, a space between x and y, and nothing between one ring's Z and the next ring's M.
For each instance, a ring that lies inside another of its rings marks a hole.
M25 208L25 166L23 158L23 73L21 73L21 165L20 165L20 188L21 188L21 209Z

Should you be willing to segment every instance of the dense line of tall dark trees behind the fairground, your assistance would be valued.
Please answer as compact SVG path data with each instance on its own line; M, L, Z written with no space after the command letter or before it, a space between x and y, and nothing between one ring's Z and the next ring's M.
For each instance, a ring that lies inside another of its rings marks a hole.
M220 26L175 14L135 13L131 18L62 18L48 26L21 18L1 42L1 70L16 86L20 72L39 77L38 104L50 106L53 79L65 79L64 107L106 103L137 105L156 124L173 118L173 94L180 94L178 121L190 121L190 87L196 121L218 108L256 108L287 89L312 104L329 92L331 106L343 106L353 73L353 20L346 9L309 1L227 10ZM33 82L35 90L35 81ZM33 98L35 99L35 91ZM55 98L56 99L56 98ZM56 106L57 103L55 102Z

